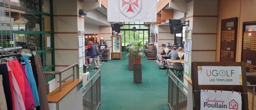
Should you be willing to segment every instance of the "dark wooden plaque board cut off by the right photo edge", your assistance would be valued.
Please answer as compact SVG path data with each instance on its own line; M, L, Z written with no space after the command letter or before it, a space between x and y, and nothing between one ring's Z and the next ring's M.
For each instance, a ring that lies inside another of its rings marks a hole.
M256 72L256 21L243 23L242 62L246 63L246 72ZM255 77L247 77L251 85L255 85ZM251 87L248 87L252 89Z

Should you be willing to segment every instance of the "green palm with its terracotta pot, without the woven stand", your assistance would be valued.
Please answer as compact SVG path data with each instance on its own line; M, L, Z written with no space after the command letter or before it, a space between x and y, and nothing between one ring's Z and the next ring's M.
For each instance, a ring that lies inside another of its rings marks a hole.
M134 64L141 64L141 58L146 57L145 53L153 53L152 50L148 50L144 48L149 44L143 44L143 41L131 41L130 45L124 48L124 51L128 53L124 56L124 58L129 58L129 56L134 57Z

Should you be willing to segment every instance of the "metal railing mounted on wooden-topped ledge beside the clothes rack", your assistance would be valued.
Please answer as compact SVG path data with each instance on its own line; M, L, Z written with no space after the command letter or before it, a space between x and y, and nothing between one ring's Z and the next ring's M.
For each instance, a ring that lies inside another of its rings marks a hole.
M75 67L76 67L77 79L79 79L79 65L78 65L78 63L75 63L75 64L70 65L69 67L66 67L66 68L64 68L60 71L53 71L53 72L47 72L46 71L46 72L43 72L44 75L46 76L46 83L48 84L48 75L57 75L57 74L59 74L59 91L61 91L61 83L62 82L66 81L67 79L69 79L72 76L73 76L73 81L75 81ZM65 71L67 71L71 68L73 68L73 74L69 75L68 77L66 77L65 79L62 80L61 73L65 72Z

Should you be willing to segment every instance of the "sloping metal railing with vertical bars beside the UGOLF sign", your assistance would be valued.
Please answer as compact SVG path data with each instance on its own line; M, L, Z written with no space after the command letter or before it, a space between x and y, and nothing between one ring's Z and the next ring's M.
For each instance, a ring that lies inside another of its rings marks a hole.
M173 77L169 75L168 78L168 105L171 110L186 110L187 93L183 89L187 90L187 87L172 71L169 70L169 72ZM175 79L177 81L175 81ZM182 85L183 87L179 85Z

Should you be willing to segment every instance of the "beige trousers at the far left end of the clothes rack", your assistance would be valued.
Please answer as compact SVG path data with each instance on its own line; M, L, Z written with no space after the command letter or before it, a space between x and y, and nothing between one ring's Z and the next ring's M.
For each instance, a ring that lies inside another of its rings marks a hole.
M7 103L5 100L5 93L3 91L3 77L0 75L0 110L7 110Z

